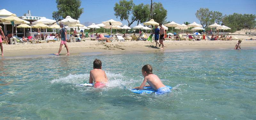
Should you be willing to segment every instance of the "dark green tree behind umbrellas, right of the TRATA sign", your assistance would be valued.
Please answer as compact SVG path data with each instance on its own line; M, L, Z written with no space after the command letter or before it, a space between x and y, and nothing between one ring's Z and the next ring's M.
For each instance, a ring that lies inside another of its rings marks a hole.
M60 21L67 16L78 20L80 15L84 12L84 8L80 8L80 0L56 0L58 11L53 11L53 19Z

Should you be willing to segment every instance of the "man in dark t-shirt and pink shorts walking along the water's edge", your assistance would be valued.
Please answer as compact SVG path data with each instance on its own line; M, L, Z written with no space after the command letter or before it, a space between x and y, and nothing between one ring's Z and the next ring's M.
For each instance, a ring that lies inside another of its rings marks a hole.
M68 38L67 38L67 31L65 30L65 28L63 26L64 26L63 23L60 23L60 27L61 27L61 30L60 30L60 32L61 32L61 42L60 42L59 52L55 54L57 56L60 55L60 51L61 51L61 48L62 48L63 44L65 45L65 47L67 49L67 52L68 52L68 54L66 54L66 55L69 55L68 45L67 45L67 40L68 40Z

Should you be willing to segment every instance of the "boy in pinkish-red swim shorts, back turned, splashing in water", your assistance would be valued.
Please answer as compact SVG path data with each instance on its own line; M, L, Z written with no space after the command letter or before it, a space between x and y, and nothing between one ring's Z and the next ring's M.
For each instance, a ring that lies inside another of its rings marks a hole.
M94 83L94 88L102 88L108 83L108 77L104 70L101 70L101 61L93 61L93 70L90 71L89 83Z

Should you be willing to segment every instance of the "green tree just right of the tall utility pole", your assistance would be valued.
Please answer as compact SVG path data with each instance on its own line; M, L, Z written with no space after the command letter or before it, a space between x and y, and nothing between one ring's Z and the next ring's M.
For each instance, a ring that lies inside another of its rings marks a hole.
M156 14L154 14L156 13ZM162 3L153 3L153 19L157 23L165 23L167 18L167 10L164 9Z

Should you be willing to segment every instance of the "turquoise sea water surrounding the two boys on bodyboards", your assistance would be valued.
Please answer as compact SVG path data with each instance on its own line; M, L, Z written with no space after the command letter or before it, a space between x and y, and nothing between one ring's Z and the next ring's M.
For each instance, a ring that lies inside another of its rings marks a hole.
M256 50L0 60L0 119L256 119ZM95 58L107 88L88 83ZM129 91L153 66L165 95Z

